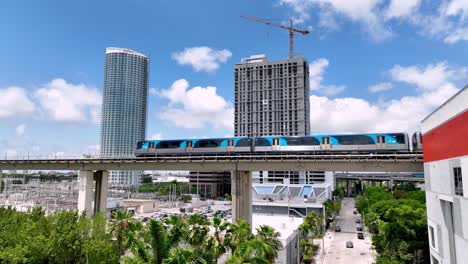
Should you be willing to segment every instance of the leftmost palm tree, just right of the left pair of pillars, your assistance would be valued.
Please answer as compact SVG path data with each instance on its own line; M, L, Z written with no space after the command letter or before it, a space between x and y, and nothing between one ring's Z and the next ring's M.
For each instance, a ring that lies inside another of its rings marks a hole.
M128 211L115 211L111 215L110 229L112 236L116 239L119 254L122 256L125 251L132 248L132 251L139 251L141 243L136 233L142 229L140 222L135 221Z

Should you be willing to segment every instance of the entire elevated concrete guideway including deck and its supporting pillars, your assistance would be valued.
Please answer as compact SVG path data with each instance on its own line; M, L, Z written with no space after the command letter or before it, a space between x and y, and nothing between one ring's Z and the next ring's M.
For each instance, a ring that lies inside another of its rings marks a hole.
M246 153L111 159L5 159L1 170L79 170L78 210L104 211L109 170L232 172L233 221L252 223L252 171L422 172L420 153ZM93 197L94 189L94 197ZM94 206L93 206L94 204Z

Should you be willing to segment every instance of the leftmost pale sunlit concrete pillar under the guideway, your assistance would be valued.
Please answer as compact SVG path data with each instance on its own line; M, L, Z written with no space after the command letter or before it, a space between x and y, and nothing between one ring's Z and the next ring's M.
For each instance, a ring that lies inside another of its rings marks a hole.
M93 171L81 170L78 173L78 211L86 212L87 216L93 215Z

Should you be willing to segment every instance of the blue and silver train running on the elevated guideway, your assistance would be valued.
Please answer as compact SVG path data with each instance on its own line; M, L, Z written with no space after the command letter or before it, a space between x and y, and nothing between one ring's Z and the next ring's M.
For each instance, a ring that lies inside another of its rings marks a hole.
M420 152L422 137L421 133L414 133L412 144L406 133L144 140L137 143L135 156L284 151Z

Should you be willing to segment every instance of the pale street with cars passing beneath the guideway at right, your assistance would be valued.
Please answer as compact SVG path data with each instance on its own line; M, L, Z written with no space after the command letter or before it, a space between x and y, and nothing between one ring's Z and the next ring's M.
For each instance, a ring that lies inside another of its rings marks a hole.
M341 232L335 232L334 228L327 231L325 235L325 255L318 252L317 263L323 264L370 264L373 263L374 256L371 254L372 242L368 232L364 233L364 239L357 238L356 218L361 218L359 214L353 214L354 199L344 198L340 215L335 223L341 227ZM353 248L346 248L346 242L352 241Z

